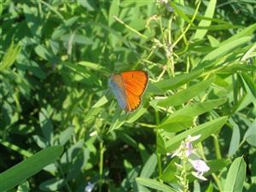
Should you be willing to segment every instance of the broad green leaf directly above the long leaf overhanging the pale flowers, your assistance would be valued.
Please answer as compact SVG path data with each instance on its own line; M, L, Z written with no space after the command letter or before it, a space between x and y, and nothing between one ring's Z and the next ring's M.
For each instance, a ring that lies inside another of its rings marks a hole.
M165 129L166 131L171 131L171 132L175 132L175 131L181 131L183 129L173 129L173 127L176 127L177 124L173 125L174 122L177 122L176 119L180 118L180 117L185 117L183 119L181 119L181 123L186 123L185 127L182 126L183 128L188 128L188 125L192 124L193 119L198 116L201 115L202 113L206 113L208 111L210 111L212 108L216 108L217 106L223 104L224 102L226 102L226 99L216 99L216 100L209 100L207 102L198 102L192 105L188 105L184 108L181 108L179 110L177 110L176 112L168 115L166 117L166 119L162 120L162 122L160 123L160 125L158 125L158 128L160 129ZM192 119L192 121L191 121ZM183 124L182 124L183 125Z

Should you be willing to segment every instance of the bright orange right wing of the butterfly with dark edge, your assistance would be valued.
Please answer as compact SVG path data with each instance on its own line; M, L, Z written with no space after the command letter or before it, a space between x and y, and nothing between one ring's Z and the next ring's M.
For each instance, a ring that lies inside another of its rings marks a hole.
M148 73L143 71L130 71L121 73L125 88L127 111L137 109L142 102L141 96L148 84Z

